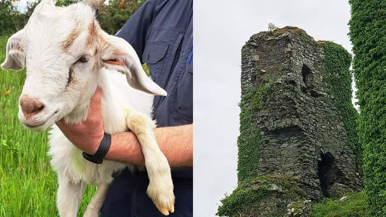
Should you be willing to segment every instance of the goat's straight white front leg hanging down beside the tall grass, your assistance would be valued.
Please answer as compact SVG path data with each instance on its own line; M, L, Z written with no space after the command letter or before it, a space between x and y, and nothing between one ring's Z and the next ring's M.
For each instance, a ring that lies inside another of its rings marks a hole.
M71 182L68 177L60 174L59 188L56 195L56 204L58 205L60 217L76 217L80 206L80 200L85 192L86 183Z

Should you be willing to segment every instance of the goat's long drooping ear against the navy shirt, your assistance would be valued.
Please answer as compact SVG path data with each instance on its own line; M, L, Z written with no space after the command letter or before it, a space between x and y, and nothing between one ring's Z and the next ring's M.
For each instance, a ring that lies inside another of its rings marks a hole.
M135 50L122 38L105 36L100 53L102 65L111 70L123 71L129 85L152 95L166 96L166 91L154 83L142 69Z

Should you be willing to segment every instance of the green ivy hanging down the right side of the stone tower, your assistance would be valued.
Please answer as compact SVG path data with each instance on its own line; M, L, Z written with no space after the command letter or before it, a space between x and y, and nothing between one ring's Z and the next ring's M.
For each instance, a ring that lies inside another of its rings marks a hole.
M328 91L335 98L335 105L343 119L349 146L354 151L357 164L362 165L363 149L358 141L357 119L359 114L352 105L352 71L350 70L351 54L339 44L324 44L324 81Z

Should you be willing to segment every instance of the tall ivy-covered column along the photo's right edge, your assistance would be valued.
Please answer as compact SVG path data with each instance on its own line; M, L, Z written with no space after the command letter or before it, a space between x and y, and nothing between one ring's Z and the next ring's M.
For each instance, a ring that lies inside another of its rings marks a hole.
M367 208L386 217L386 0L349 3Z

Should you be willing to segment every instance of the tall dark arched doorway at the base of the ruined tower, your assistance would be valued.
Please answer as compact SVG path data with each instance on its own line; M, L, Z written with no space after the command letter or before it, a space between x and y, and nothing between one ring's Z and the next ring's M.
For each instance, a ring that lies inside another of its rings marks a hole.
M321 158L322 160L318 162L318 178L320 180L320 188L322 188L322 194L329 197L328 190L335 179L335 158L329 152L322 154Z

